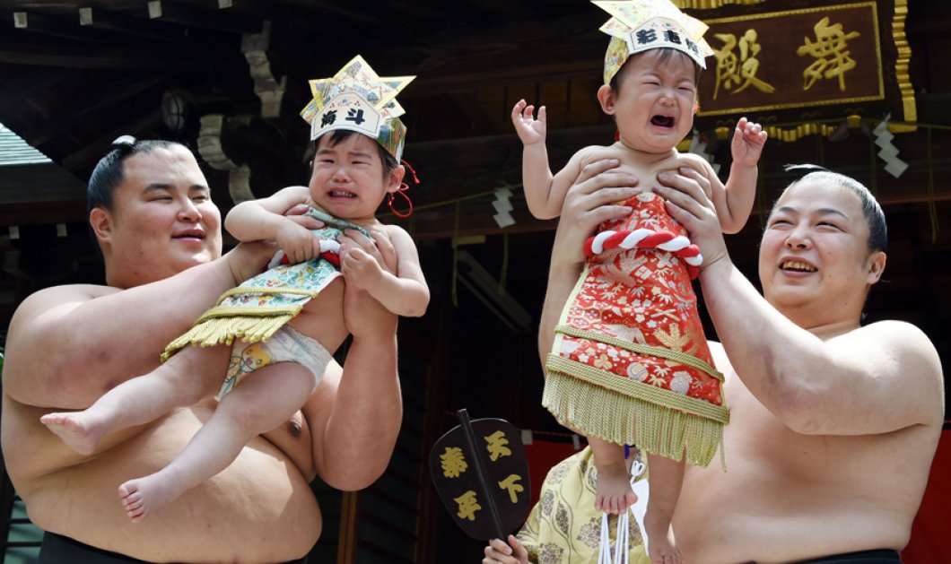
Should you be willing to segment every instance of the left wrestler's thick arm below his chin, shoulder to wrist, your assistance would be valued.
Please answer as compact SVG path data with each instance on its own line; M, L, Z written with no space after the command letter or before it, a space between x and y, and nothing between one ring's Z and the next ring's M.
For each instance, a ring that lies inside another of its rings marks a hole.
M4 391L28 405L82 409L146 374L170 340L273 254L263 245L240 249L126 290L68 285L30 295L10 321Z

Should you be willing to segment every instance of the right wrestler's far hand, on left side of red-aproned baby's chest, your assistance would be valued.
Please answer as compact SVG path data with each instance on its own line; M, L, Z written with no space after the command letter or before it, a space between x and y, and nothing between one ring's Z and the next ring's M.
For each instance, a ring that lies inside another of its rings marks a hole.
M616 170L615 159L586 165L565 195L561 220L554 234L552 267L574 266L580 272L585 261L584 243L599 224L623 218L631 207L618 205L640 192L637 178Z

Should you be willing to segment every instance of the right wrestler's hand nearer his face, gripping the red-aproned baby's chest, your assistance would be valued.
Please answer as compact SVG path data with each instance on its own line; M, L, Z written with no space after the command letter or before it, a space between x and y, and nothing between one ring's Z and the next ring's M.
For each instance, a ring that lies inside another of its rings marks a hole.
M662 172L657 175L657 180L661 184L654 191L667 200L665 205L670 217L684 225L690 241L700 247L704 256L701 270L724 259L729 261L716 209L707 196L707 177L681 166L677 173Z

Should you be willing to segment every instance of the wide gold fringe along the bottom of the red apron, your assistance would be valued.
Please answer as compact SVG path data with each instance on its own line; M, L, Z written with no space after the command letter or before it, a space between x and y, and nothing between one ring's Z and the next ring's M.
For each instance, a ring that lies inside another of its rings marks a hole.
M586 436L616 444L636 444L653 455L709 465L723 452L726 407L670 390L619 378L586 364L549 355L542 405L553 416Z

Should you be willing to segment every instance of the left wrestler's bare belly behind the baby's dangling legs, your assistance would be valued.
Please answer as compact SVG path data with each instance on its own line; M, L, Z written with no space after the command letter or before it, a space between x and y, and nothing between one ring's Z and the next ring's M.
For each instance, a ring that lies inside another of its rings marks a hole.
M279 441L281 449L255 438L221 474L141 523L128 520L119 484L164 466L209 414L179 410L99 457L18 480L30 518L87 544L156 561L273 562L307 554L320 535L320 509L281 450L298 443L304 450L300 436Z

